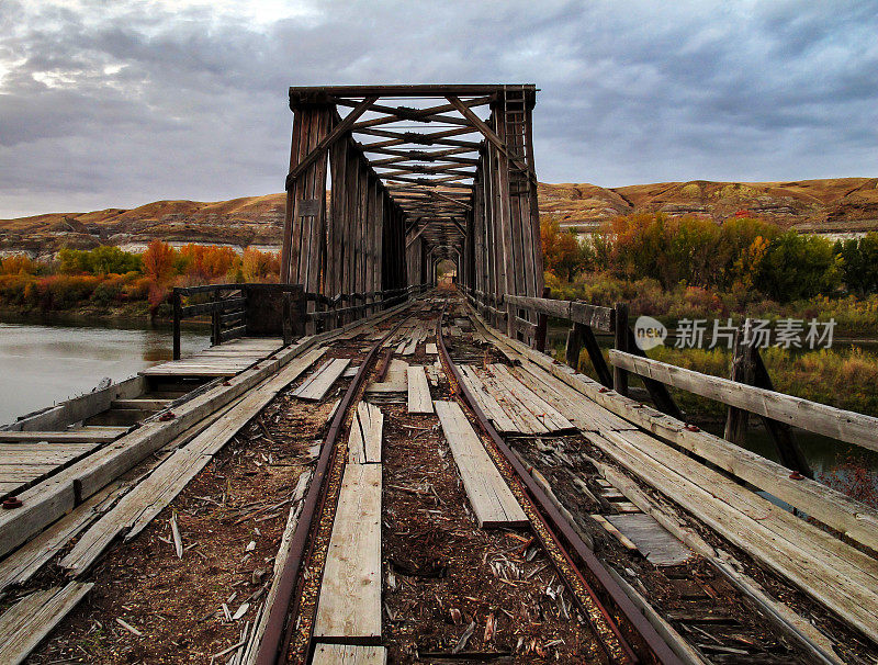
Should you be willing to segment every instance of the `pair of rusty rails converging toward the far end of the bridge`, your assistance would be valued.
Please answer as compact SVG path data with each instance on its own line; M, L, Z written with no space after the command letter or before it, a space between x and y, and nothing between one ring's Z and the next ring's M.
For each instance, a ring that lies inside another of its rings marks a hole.
M465 393L460 391L459 370L453 364L441 334L444 308L443 304L441 312L436 317L435 330L439 357L448 379L450 394L460 394L465 399ZM305 663L315 651L314 618L347 452L344 435L353 420L357 405L363 397L370 376L381 379L386 373L392 353L382 353L381 349L386 346L407 318L406 314L401 314L389 331L371 346L336 409L320 457L317 460L312 485L304 499L299 526L291 541L290 555L277 582L278 601L268 609L267 629L256 656L256 663L261 665L273 665L280 662ZM466 406L471 408L471 404ZM509 457L496 457L497 451L505 448L505 443L491 427L489 421L484 419L484 415L476 409L477 405L471 413L474 413L483 427L486 426L485 431L492 437L489 446L496 447L492 450L495 462L505 471L506 480L516 497L526 507L526 514L530 521L527 531L532 533L544 550L551 566L567 586L581 616L588 619L601 654L599 661L607 663L678 663L679 660L662 638L642 618L630 600L615 588L611 577L599 567L596 561L592 562L595 567L588 570L589 579L586 581L573 562L574 556L579 559L582 554L574 553L572 555L569 552L571 541L575 546L575 533L571 531L570 526L563 521L563 517L556 510L554 514L552 512L553 508L548 501L540 505L533 503L531 496L536 495L539 500L541 498L540 489L532 486L532 481L528 480L529 476L526 472L524 476L516 475L518 472L516 465L520 466L520 462L515 460L508 449L506 449L506 454ZM547 520L543 517L547 512L554 519ZM585 552L584 543L578 541L578 544ZM601 594L593 590L596 582L601 585ZM611 609L605 607L606 600L601 598L601 596L607 596L604 593L607 586L611 589L610 598L612 598L612 593L617 594L612 599ZM630 615L630 619L624 619L622 628L614 617L614 613L620 612L620 608ZM504 652L497 651L494 655L485 652L481 654L481 658L477 654L469 653L464 654L464 657L489 661L497 655L504 655ZM437 657L436 654L432 657Z

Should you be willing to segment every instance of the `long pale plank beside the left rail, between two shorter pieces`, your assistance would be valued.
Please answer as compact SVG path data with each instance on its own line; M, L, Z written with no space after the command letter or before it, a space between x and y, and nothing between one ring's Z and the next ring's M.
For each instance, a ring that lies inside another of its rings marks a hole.
M317 641L381 640L381 464L345 467L314 620Z

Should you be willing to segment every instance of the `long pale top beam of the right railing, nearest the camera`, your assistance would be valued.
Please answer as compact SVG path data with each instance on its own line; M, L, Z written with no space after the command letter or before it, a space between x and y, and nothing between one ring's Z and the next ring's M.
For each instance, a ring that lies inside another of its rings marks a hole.
M610 364L779 422L878 451L878 418L617 350Z

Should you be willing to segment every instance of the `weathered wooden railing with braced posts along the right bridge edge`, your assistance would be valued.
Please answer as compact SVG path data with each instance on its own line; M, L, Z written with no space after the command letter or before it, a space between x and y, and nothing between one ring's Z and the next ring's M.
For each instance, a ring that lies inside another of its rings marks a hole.
M463 291L466 293L465 288ZM476 294L466 293L466 296L474 306L482 305ZM734 340L732 377L722 379L646 358L634 343L628 324L627 303L598 307L587 303L509 295L498 301L499 306L508 301L515 307L527 307L540 315L572 323L565 349L565 360L571 369L545 356L531 356L547 371L687 454L777 497L802 517L814 518L834 532L878 551L878 512L856 498L814 481L791 430L791 427L797 427L878 451L878 418L774 391L758 349L745 343L743 330L746 323L739 328ZM597 343L595 330L614 335L615 348L608 352L609 363ZM574 373L578 370L583 346L588 350L598 381ZM629 374L643 380L655 409L628 396ZM667 393L667 386L727 405L723 437L687 422ZM669 404L663 405L663 396L669 399ZM741 446L748 414L758 416L765 424L777 446L780 464Z

